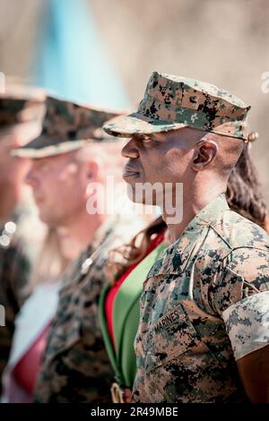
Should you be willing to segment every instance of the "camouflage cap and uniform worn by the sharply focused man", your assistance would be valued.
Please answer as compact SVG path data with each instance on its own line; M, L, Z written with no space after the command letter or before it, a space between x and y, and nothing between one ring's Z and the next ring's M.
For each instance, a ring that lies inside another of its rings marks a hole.
M138 112L104 129L132 137L188 126L248 142L248 109L208 83L153 73ZM135 402L248 400L237 362L268 350L268 264L268 235L225 193L195 215L143 284Z

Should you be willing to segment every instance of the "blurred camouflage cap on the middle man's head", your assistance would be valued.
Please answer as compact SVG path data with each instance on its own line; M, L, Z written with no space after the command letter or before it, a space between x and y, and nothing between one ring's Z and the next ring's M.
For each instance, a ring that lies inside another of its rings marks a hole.
M45 158L79 149L85 142L111 139L101 127L106 121L119 116L114 111L77 104L52 96L47 97L46 105L46 116L39 137L22 148L13 150L13 156Z

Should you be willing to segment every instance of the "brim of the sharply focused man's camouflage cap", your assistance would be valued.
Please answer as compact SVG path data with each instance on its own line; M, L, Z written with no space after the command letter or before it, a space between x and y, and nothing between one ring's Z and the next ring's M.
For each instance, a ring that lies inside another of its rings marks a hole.
M103 125L103 130L112 136L131 137L134 134L163 133L187 127L184 123L169 123L143 116L140 113L118 116Z

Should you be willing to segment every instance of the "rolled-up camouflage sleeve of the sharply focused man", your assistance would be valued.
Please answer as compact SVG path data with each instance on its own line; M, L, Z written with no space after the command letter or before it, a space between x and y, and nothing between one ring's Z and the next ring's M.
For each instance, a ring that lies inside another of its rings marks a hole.
M230 254L212 305L225 322L235 359L269 344L269 253L240 248Z

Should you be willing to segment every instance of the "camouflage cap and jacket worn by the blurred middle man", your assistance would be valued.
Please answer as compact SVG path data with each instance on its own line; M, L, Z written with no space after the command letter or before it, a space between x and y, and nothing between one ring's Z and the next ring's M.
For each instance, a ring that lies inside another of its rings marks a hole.
M101 129L113 116L114 112L48 97L39 138L13 153L41 159L82 148L89 142L115 142ZM111 401L113 371L98 318L98 299L106 281L103 265L108 251L128 242L140 228L142 219L133 215L108 218L65 272L36 383L37 402Z

